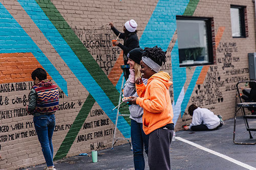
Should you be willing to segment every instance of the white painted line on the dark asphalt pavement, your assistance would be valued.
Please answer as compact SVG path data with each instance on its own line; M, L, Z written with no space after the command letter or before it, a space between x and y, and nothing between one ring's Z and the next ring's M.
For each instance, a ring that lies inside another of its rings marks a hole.
M240 166L242 166L242 167L245 167L245 168L247 168L247 169L255 169L255 170L256 170L255 167L252 167L252 166L250 166L250 165L247 165L247 164L245 164L245 163L243 163L243 162L240 162L240 161L238 161L238 160L236 160L236 159L230 158L230 157L228 157L228 156L226 156L226 155L223 155L223 154L221 154L221 153L218 153L218 152L212 151L212 150L210 150L210 149L204 148L204 147L202 147L202 146L199 145L199 144L196 144L196 143L194 143L194 142L188 141L188 140L183 139L183 138L181 138L181 137L178 137L178 136L177 136L175 139L178 139L178 140L180 140L180 141L183 141L183 142L185 142L185 143L188 143L188 144L190 144L190 145L193 145L193 146L196 147L196 148L199 148L199 149L201 149L201 150L203 150L203 151L206 151L206 152L209 152L209 153L214 154L214 155L216 155L216 156L219 156L219 157L221 157L221 158L224 158L224 159L226 159L226 160L228 160L228 161L230 161L230 162L236 163L236 164L238 164L238 165L240 165Z

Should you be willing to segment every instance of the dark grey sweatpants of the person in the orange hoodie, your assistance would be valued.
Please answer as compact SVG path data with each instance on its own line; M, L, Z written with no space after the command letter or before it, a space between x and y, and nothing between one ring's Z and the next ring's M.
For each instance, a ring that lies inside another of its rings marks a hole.
M174 130L159 128L149 134L148 166L150 170L170 169L170 143Z

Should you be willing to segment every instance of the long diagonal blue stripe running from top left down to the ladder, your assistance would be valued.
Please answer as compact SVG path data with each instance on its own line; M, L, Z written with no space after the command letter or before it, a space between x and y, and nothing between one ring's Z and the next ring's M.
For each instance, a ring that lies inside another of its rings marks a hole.
M93 98L102 108L102 110L110 117L112 122L115 122L116 111L111 111L115 106L110 101L108 96L106 96L97 82L93 79L88 70L83 66L70 46L62 38L38 4L34 0L18 0L18 2L20 5L22 5L40 31L45 35L47 40L52 44L63 61L67 63L68 67L77 77L77 79L90 92L90 94L92 94ZM121 131L124 137L130 137L130 130L127 133L127 128L129 129L130 125L123 117L119 117L118 121L119 124L117 127L119 131Z

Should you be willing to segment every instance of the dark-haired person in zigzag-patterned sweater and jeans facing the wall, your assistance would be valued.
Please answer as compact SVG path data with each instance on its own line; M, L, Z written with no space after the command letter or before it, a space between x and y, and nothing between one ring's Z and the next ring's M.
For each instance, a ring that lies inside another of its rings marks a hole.
M55 127L55 112L59 105L59 90L51 80L47 79L47 73L42 68L35 69L31 78L34 86L29 94L27 111L34 116L35 130L47 164L45 169L56 170L53 164L52 135Z

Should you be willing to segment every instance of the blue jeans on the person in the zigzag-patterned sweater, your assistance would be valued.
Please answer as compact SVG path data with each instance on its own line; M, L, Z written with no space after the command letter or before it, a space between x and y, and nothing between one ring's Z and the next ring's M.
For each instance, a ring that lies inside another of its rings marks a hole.
M33 121L46 164L53 166L52 135L55 127L55 115L34 116Z

